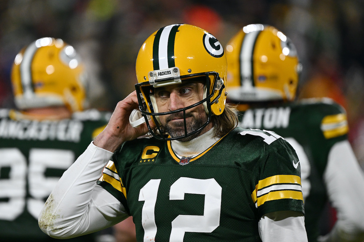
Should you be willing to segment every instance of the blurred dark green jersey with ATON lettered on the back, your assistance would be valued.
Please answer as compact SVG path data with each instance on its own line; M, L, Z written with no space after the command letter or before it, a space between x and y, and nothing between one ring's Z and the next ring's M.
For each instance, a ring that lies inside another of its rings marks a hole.
M242 114L239 126L272 130L296 150L301 165L308 240L317 241L319 218L327 202L323 173L329 150L336 142L347 139L345 110L324 98L254 108Z

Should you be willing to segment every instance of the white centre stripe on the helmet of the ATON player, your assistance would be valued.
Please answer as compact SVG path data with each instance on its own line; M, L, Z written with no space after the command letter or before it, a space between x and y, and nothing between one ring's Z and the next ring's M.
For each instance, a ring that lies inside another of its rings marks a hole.
M240 78L244 88L253 87L253 51L260 31L246 33L240 51Z

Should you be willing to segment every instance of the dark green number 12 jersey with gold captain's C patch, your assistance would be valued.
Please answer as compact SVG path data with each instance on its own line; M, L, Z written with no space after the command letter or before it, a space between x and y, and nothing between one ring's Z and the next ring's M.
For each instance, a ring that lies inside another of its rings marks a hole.
M261 241L262 215L304 213L296 153L273 132L236 128L193 158L141 138L112 160L98 183L133 216L138 241Z

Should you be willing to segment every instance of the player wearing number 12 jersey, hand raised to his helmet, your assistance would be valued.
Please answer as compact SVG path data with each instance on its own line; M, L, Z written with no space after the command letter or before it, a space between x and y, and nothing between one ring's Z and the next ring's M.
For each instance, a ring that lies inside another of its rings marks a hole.
M274 132L236 128L226 71L209 32L154 32L136 90L63 174L40 228L71 238L131 215L138 241L307 241L297 155ZM150 121L130 123L138 108Z

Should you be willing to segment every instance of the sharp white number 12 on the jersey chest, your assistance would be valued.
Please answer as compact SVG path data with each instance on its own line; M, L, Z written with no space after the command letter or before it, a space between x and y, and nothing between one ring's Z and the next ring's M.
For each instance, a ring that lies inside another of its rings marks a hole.
M139 192L139 201L145 201L142 208L144 241L154 241L157 234L154 207L161 179L150 180ZM178 215L171 223L170 242L183 242L185 232L211 233L220 225L221 186L215 179L180 177L170 188L170 200L183 200L186 193L204 194L203 215Z

